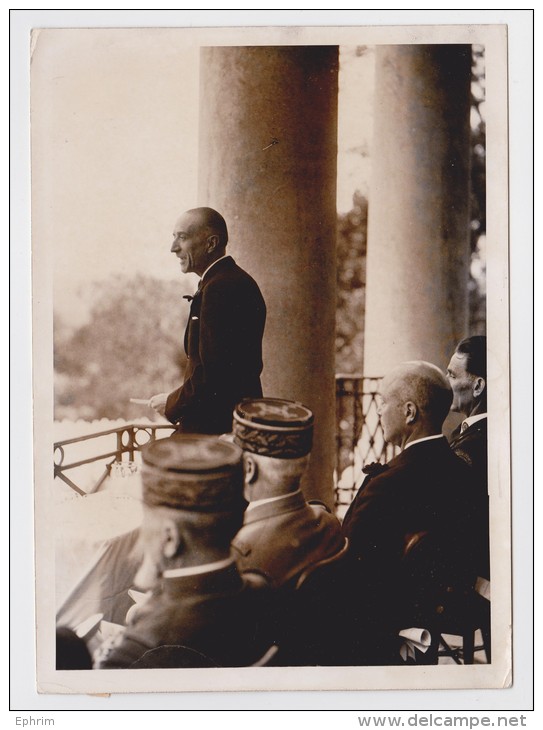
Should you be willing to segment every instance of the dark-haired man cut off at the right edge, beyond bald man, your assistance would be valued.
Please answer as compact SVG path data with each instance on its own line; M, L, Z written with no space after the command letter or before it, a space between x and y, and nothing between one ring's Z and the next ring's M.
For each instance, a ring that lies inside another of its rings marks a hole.
M451 411L465 418L450 438L452 450L473 470L480 514L479 576L490 580L488 513L488 440L486 405L486 337L467 337L456 346L447 378L453 391Z

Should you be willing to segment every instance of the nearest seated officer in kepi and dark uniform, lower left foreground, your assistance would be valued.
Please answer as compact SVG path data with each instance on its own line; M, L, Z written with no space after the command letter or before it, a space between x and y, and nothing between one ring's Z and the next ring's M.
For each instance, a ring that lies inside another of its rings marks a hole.
M143 450L144 558L150 590L128 626L95 653L95 669L247 666L265 654L260 595L230 556L245 501L237 446L174 436Z

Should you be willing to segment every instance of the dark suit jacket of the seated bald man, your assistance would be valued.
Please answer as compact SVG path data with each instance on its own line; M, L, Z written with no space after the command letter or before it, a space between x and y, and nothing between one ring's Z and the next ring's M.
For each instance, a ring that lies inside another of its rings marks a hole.
M349 620L358 632L431 628L443 592L473 585L473 494L469 467L444 437L405 449L366 477L342 525L357 596Z

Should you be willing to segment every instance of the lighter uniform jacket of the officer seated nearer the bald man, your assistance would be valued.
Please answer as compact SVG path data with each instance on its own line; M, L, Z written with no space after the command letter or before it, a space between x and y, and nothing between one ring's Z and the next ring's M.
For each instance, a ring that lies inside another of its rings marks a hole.
M338 519L295 492L247 511L232 548L242 572L256 570L280 587L339 553L344 544Z

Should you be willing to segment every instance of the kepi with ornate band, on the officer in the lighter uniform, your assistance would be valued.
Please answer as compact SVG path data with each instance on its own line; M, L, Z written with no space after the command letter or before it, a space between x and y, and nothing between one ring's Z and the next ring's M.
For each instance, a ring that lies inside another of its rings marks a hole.
M311 451L313 413L281 398L245 399L234 409L234 442L244 451L297 459Z

